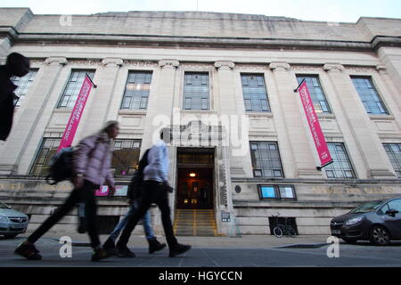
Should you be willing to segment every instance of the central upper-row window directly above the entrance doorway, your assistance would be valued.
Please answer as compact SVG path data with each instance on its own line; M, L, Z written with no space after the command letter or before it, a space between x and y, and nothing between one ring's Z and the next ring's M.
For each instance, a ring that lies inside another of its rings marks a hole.
M209 110L209 74L185 72L184 110Z

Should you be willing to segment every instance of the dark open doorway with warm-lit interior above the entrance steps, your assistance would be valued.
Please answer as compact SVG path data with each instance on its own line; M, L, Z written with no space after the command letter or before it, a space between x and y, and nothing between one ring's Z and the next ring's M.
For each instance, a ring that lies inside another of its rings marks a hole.
M213 168L178 168L177 208L213 208Z

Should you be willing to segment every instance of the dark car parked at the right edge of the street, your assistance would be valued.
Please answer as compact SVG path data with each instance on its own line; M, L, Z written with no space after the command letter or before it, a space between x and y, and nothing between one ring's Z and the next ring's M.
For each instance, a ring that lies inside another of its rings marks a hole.
M375 245L388 245L401 240L401 198L370 201L331 220L331 235L347 243L370 240Z

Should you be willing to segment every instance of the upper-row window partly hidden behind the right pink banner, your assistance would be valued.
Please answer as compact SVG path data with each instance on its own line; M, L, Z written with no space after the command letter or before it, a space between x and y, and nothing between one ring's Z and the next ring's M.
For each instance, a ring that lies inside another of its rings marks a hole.
M303 79L307 82L307 90L309 90L316 113L331 114L319 77L317 75L297 75L299 84Z

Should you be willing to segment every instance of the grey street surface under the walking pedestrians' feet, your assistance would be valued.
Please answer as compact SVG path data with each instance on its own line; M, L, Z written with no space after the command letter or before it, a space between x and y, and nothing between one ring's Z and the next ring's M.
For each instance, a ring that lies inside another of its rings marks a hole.
M335 248L328 243L329 236L323 235L281 239L271 235L235 238L182 236L177 240L192 245L192 249L174 258L168 257L168 248L149 255L144 237L133 235L128 247L135 252L135 258L113 256L94 263L90 261L87 235L48 232L36 243L43 260L28 261L13 255L14 248L28 234L14 239L0 238L0 267L401 267L401 242L376 247L367 241L355 245L340 241ZM61 257L61 236L70 236L72 240L71 257ZM106 239L107 235L101 236L102 241ZM164 237L158 236L158 240L165 242Z

